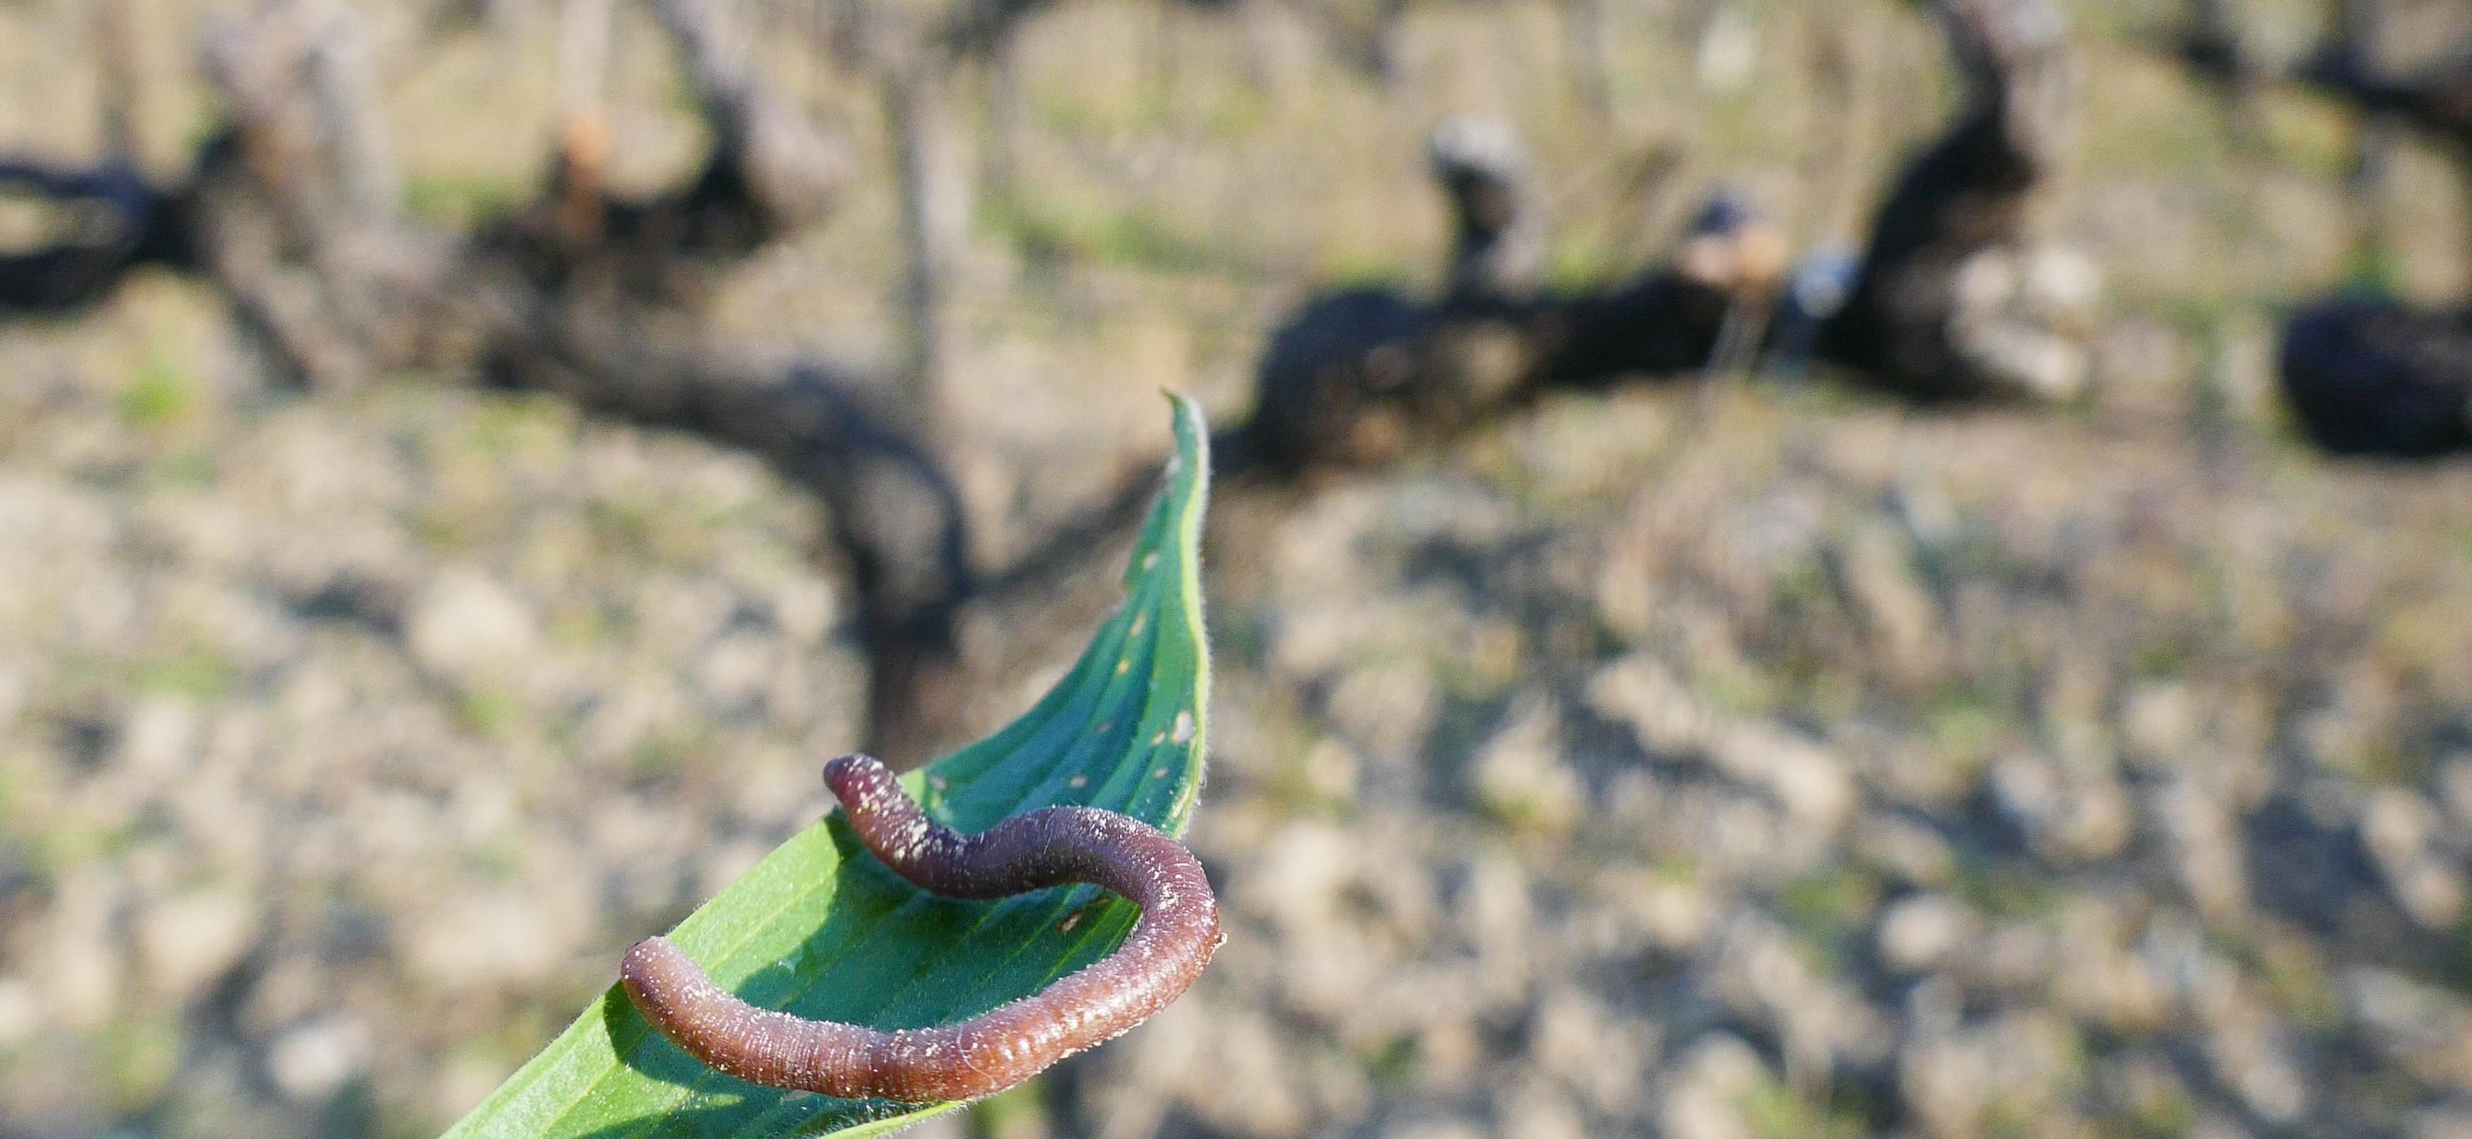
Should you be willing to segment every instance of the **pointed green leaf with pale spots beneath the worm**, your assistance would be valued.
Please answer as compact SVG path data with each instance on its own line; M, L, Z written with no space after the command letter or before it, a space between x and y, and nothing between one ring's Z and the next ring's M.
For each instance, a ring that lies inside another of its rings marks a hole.
M1167 494L1142 524L1125 605L1021 719L902 776L962 830L1090 803L1182 833L1201 791L1209 650L1201 635L1201 410L1177 395ZM826 756L818 756L818 768ZM670 934L764 1008L920 1028L1036 993L1115 949L1140 912L1098 887L942 899L892 877L840 815L781 843ZM616 978L618 961L611 959ZM447 1139L885 1134L957 1104L831 1099L756 1087L680 1053L616 986Z

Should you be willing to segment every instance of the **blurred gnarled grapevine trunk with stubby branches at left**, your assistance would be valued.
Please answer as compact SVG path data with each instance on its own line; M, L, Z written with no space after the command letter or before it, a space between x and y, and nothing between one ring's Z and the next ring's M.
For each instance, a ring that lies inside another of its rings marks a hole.
M208 42L227 128L180 188L124 168L0 168L0 188L114 217L101 240L0 262L0 309L91 304L133 264L173 264L311 383L425 371L761 455L818 494L853 568L868 744L932 759L967 729L957 620L979 593L934 435L890 378L754 366L707 331L717 274L818 217L848 156L754 79L719 5L655 7L712 128L707 163L677 190L603 190L586 96L569 101L539 198L470 232L415 225L396 212L383 131L353 82L366 67L351 12L272 2Z

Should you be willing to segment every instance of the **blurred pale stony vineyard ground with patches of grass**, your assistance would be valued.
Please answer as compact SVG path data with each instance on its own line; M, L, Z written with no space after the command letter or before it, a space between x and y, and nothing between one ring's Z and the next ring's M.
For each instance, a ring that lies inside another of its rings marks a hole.
M1812 47L1750 7L1758 52ZM1864 74L1938 67L1866 12ZM1439 247L1399 205L1414 138L1560 59L1540 7L1416 7L1397 91L1308 54L1266 99L1221 82L1236 37L1159 57L1206 84L1135 67L1182 42L1149 27L1033 25L1023 74L1088 89L1038 86L1023 175L1157 185L1122 217L1219 262L974 245L991 553L1152 462L1159 385L1234 422L1300 282ZM1229 946L1028 1109L917 1134L2472 1134L2472 464L2282 432L2264 329L2339 274L2341 163L2195 143L2198 96L2114 32L2059 210L2119 282L2084 408L1624 390L1382 477L1221 487L1192 840ZM1703 128L1676 185L1810 205L1805 156L1721 136L1800 121L1802 79L1693 126L1693 72L1651 64L1627 106L1676 111L1617 138L1523 111L1577 242L1619 242L1582 215L1624 156ZM57 141L20 104L10 138ZM475 116L408 111L410 168L502 153L438 126ZM887 341L892 232L860 185L734 304ZM2442 247L2410 269L2462 279ZM0 1137L435 1134L826 810L865 682L848 568L756 462L430 378L274 390L153 277L0 329Z

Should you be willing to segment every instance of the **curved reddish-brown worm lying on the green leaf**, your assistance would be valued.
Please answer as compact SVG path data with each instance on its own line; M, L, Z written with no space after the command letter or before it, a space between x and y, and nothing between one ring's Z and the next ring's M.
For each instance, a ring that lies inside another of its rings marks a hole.
M766 1087L927 1104L976 1099L1100 1045L1182 996L1219 949L1219 902L1201 862L1135 818L1046 808L976 835L939 825L870 756L823 768L850 828L920 889L991 899L1093 882L1142 907L1115 954L1036 996L942 1028L883 1033L754 1008L653 936L618 976L645 1020L705 1065Z

